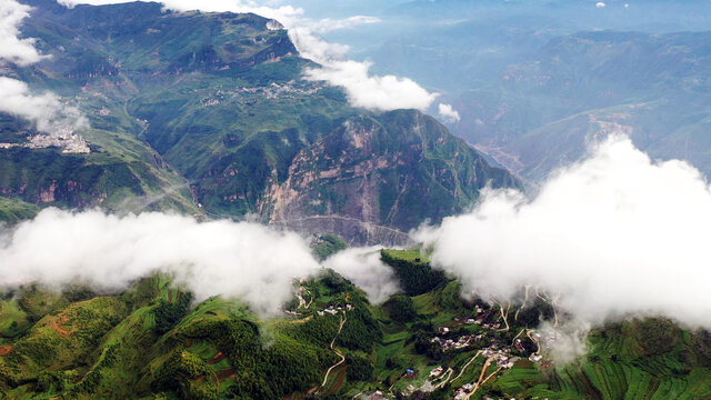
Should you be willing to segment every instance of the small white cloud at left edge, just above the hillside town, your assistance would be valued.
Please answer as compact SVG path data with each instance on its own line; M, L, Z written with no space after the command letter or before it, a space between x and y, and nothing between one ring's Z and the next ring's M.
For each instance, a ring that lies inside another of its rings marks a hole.
M32 122L42 133L61 136L88 127L78 108L62 103L52 92L33 96L27 83L0 77L0 112Z

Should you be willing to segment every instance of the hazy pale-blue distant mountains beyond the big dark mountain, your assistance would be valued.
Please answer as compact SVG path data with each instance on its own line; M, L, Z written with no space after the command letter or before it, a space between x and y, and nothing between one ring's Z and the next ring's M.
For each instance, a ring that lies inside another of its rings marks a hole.
M438 0L378 14L353 52L443 93L461 116L452 132L529 182L612 131L711 173L709 1Z

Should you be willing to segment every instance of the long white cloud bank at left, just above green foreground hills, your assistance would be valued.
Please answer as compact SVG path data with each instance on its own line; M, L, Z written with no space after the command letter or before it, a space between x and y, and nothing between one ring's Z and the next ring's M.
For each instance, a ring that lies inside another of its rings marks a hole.
M197 300L220 294L240 298L259 312L276 312L291 298L293 279L320 269L301 237L249 222L47 209L1 233L0 286L6 287L79 280L120 289L162 271Z

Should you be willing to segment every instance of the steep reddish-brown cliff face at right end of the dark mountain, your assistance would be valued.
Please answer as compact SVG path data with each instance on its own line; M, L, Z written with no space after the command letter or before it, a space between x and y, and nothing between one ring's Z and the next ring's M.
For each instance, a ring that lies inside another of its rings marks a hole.
M271 223L352 242L407 241L410 229L461 212L480 189L515 187L431 117L401 110L348 119L293 158L262 203Z

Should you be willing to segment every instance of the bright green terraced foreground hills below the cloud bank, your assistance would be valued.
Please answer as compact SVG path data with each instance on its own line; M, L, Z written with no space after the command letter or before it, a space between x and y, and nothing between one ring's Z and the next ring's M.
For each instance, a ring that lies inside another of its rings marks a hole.
M236 300L194 302L163 276L116 293L34 284L6 292L0 398L711 396L709 332L663 319L611 322L589 334L584 357L555 362L545 356L555 337L537 328L558 318L543 294L515 304L467 301L460 283L418 250L381 257L408 294L372 304L324 270L298 283L288 312L269 318Z

